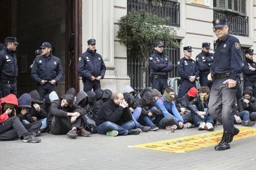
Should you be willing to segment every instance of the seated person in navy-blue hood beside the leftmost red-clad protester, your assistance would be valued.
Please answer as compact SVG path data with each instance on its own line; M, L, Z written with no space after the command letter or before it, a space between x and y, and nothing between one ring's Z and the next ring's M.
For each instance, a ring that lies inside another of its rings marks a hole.
M31 102L32 99L29 94L24 93L20 95L18 99L17 116L28 131L32 132L34 136L40 136L42 123L41 121L37 121L36 118L32 118L30 115L29 110L31 108Z

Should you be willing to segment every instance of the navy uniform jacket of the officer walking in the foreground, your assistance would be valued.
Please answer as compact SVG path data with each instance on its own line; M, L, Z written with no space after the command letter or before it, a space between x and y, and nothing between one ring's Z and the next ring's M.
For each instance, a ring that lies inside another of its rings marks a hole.
M211 73L230 73L229 78L238 79L242 71L242 52L240 42L228 34L223 40L217 39Z

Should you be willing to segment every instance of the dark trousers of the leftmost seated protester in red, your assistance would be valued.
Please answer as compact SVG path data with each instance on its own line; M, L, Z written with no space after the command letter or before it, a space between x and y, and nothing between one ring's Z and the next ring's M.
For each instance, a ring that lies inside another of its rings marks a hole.
M0 140L14 140L28 132L17 116L11 117L0 124Z

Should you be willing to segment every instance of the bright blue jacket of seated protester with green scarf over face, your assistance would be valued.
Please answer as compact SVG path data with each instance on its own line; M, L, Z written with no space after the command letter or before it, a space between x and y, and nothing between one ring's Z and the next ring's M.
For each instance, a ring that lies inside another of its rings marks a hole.
M164 117L172 116L176 123L179 121L184 122L182 116L179 114L179 111L177 111L174 102L168 102L164 97L161 97L160 99L156 100L156 105L158 105L158 107L161 109Z

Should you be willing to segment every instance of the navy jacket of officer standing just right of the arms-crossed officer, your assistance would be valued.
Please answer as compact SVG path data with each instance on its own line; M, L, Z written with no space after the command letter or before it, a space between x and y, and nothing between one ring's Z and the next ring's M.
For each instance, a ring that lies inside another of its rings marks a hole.
M196 78L199 76L197 63L192 59L186 59L186 57L179 60L177 70L181 79L189 79L189 76L195 76Z

